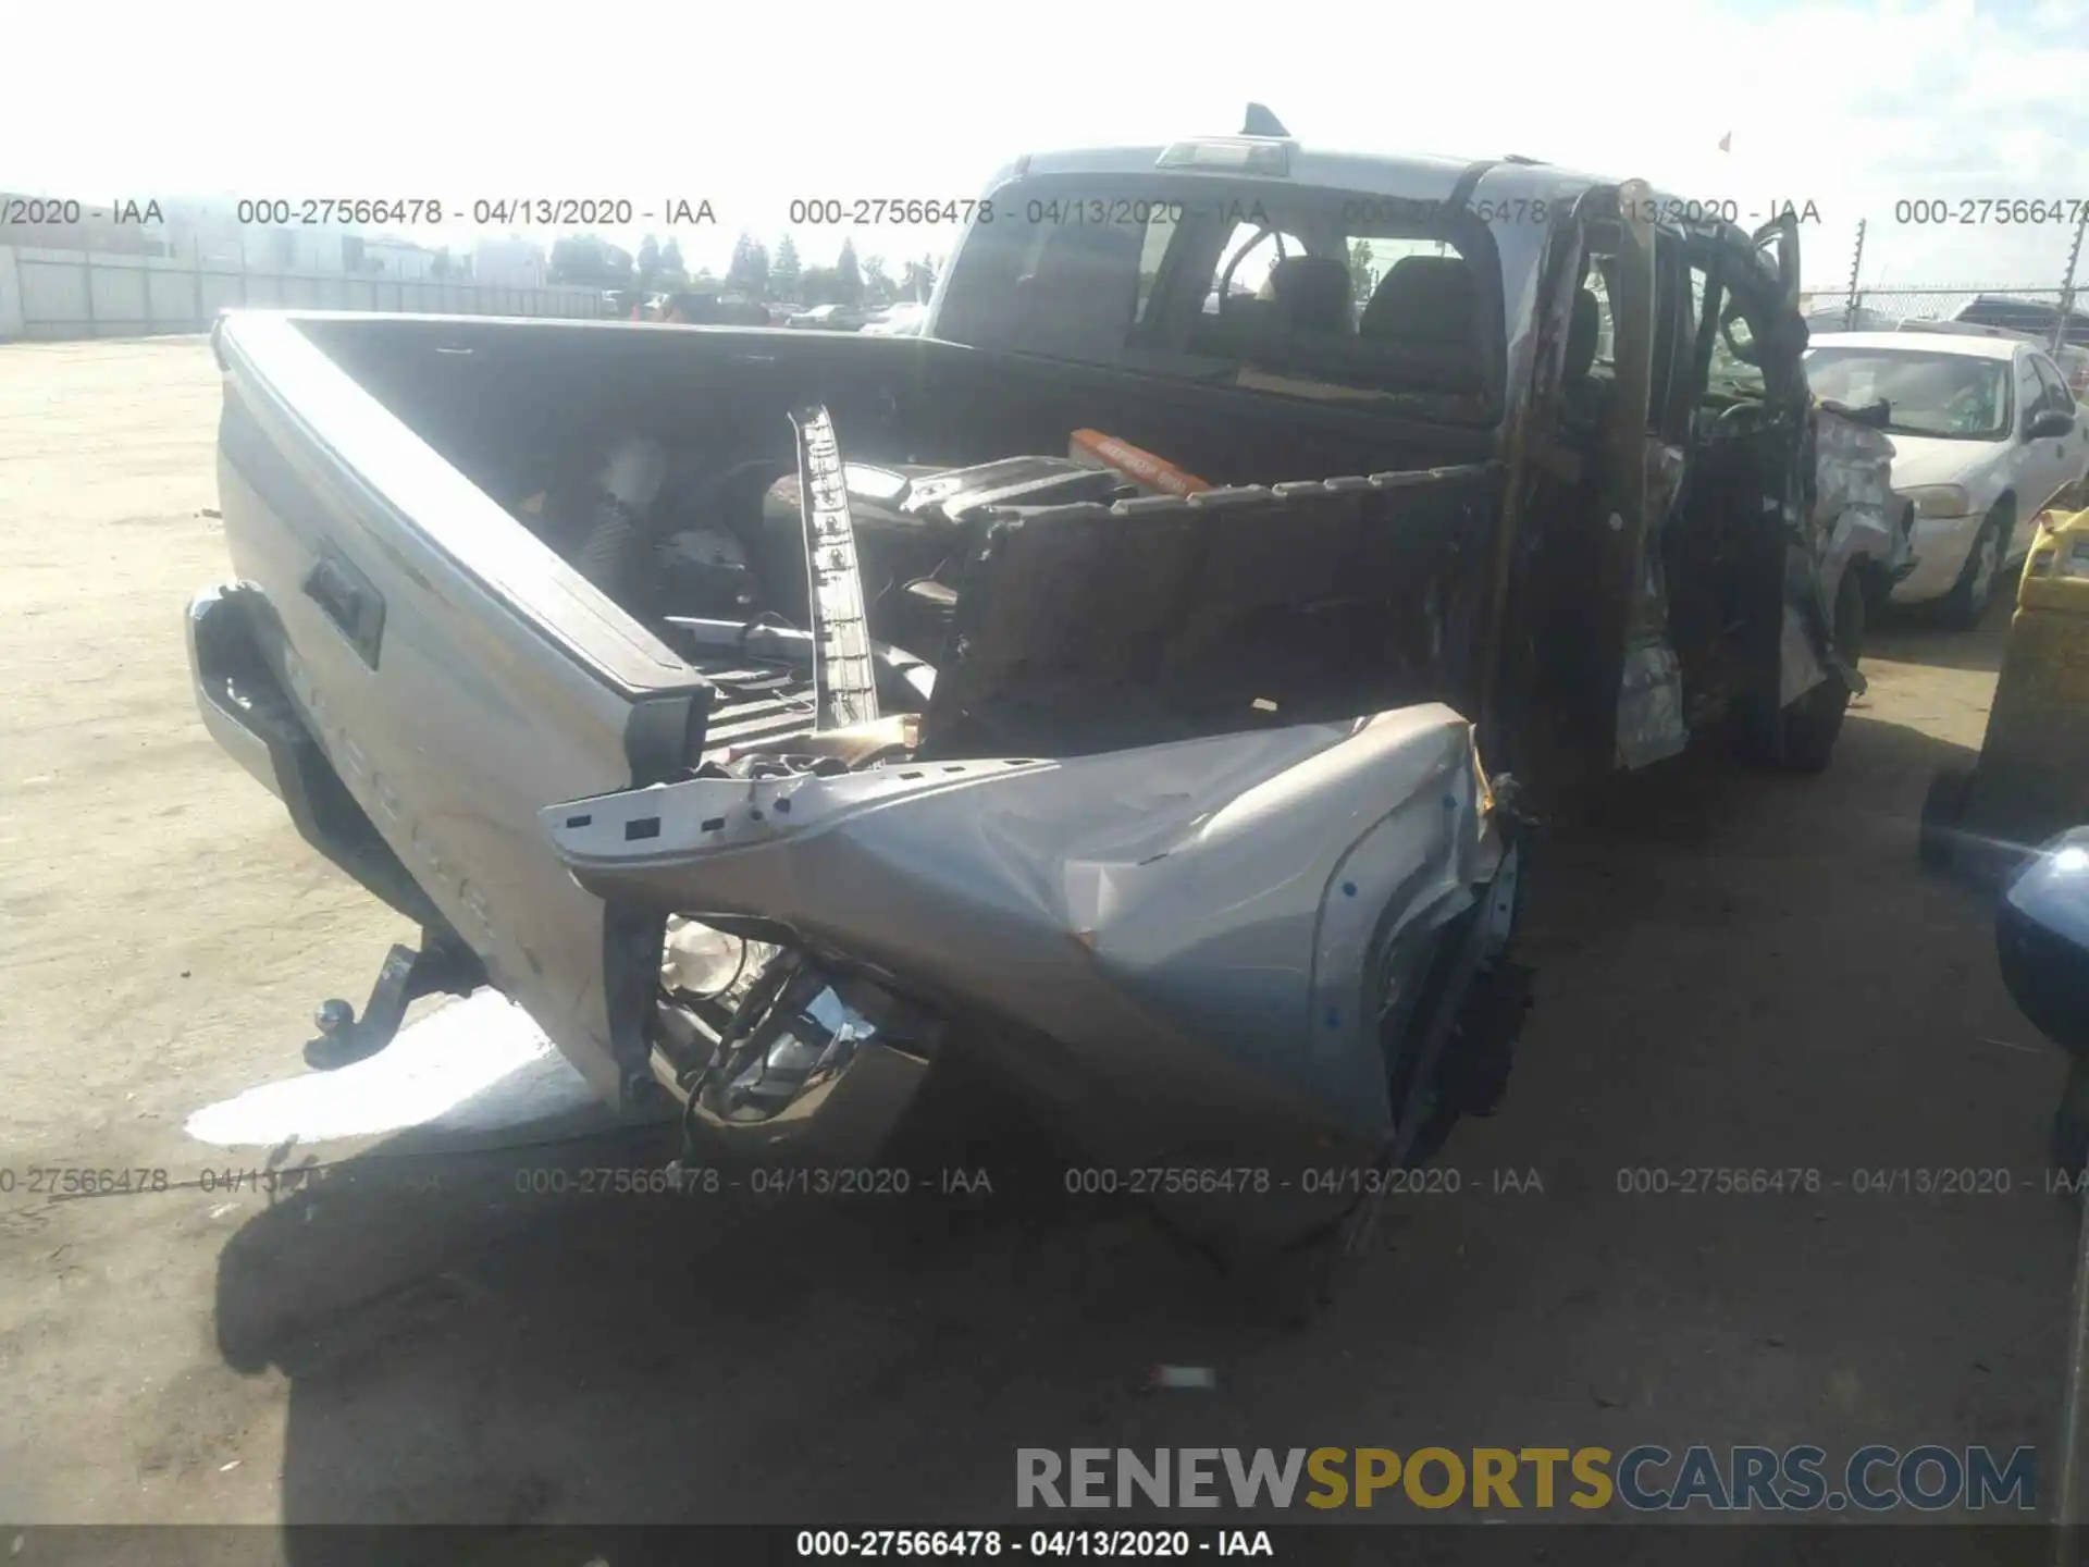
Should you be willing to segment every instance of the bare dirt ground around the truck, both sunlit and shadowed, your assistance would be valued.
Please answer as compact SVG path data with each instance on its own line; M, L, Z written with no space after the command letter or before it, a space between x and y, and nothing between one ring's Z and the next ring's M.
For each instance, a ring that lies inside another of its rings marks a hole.
M1688 761L1552 832L1538 1005L1446 1153L1462 1191L1283 1331L1113 1210L516 1195L641 1132L203 1191L257 1160L184 1118L303 1072L311 1007L407 936L194 717L215 410L196 338L0 349L0 1519L992 1521L1013 1448L1076 1444L2033 1444L2051 1496L2062 1068L1982 898L1914 857L1999 614L1878 639L1822 779ZM169 1189L25 1189L61 1166ZM1824 1187L1617 1189L1692 1166ZM2014 1189L1857 1195L1880 1168ZM1218 1385L1145 1394L1157 1362Z

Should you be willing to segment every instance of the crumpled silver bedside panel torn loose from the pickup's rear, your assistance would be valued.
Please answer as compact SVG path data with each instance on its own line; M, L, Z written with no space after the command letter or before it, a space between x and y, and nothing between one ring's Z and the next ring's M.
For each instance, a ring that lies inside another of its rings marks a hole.
M543 825L591 892L783 928L1042 1040L1076 1099L1164 1089L1210 1126L1285 1101L1377 1145L1383 976L1492 878L1483 790L1471 725L1423 704L1070 761L691 779Z

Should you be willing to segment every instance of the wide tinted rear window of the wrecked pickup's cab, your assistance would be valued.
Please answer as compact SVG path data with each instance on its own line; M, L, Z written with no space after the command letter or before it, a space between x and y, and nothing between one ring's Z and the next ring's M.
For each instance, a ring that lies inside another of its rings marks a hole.
M1274 180L1022 180L967 232L938 336L1485 424L1500 265L1485 224L1439 213Z

